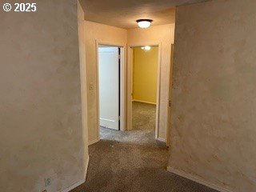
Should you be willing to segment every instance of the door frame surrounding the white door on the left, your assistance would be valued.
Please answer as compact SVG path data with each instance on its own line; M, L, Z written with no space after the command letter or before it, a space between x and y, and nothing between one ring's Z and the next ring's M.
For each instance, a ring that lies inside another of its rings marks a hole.
M99 122L99 86L98 86L98 48L102 46L117 46L120 48L120 130L125 130L126 125L126 45L113 43L113 42L104 42L96 40L96 94L97 94L97 135L98 141L100 140L100 122Z

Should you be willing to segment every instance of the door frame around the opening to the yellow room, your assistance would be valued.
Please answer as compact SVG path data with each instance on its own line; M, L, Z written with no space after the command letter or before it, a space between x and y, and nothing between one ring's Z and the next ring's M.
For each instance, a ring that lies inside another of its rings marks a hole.
M132 102L133 102L133 48L137 46L158 46L158 78L157 78L157 103L156 103L156 121L155 121L155 138L158 139L159 132L159 108L160 108L160 84L161 84L161 56L162 56L162 45L161 42L146 42L140 44L129 44L128 45L128 71L127 80L127 129L131 130L132 127Z

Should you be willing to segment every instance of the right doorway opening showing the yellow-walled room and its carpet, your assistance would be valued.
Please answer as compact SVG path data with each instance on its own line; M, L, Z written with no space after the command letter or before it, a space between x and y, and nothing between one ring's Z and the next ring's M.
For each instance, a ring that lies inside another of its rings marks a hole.
M159 46L131 46L130 130L158 138Z

